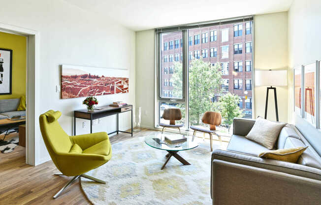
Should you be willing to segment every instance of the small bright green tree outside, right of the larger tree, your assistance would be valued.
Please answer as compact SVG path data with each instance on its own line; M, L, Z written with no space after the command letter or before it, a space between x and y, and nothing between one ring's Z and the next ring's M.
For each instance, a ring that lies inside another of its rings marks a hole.
M237 95L233 95L231 93L227 93L222 95L219 99L220 102L220 110L223 117L223 123L228 125L228 132L230 129L230 125L233 123L234 117L243 117L243 112L238 106L240 97Z

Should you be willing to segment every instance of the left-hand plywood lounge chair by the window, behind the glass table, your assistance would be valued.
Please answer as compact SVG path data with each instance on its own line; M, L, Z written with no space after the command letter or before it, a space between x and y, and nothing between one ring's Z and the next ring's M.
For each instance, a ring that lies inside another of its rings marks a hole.
M161 130L161 133L163 133L165 128L177 128L179 130L179 133L181 133L181 127L184 126L184 124L179 124L176 125L175 124L175 120L180 120L182 119L182 112L180 109L178 108L167 108L164 110L162 118L164 120L169 120L169 125L168 124L164 124L164 123L160 123L160 126L163 127L163 129Z

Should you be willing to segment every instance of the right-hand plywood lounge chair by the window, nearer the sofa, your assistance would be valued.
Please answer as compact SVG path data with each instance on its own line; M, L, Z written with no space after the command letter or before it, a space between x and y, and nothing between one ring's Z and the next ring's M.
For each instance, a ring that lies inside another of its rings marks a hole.
M219 112L212 112L212 111L206 111L202 117L202 122L205 124L210 125L210 129L202 126L191 126L190 128L194 130L193 136L195 135L196 132L201 132L201 133L208 133L210 135L210 143L211 143L211 151L213 151L212 147L212 134L216 135L219 137L220 142L222 142L221 136L219 136L216 133L216 126L221 125L222 122L222 115Z

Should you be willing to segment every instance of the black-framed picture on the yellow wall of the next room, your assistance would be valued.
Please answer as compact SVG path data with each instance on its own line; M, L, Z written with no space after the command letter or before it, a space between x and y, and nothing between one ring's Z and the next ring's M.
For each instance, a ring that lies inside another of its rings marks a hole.
M0 48L0 95L11 95L12 50Z

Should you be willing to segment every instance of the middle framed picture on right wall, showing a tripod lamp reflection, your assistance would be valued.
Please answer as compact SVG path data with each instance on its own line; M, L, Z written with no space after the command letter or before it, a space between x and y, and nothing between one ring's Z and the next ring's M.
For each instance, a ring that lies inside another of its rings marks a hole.
M304 118L316 125L316 63L304 66Z

